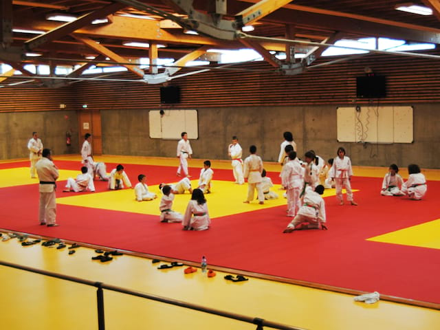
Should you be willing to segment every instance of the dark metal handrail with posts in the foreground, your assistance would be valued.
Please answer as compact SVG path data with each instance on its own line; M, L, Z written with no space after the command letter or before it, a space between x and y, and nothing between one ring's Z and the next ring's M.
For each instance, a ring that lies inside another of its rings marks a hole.
M102 289L107 289L107 290L110 290L113 292L120 292L122 294L129 294L130 296L136 296L136 297L140 297L140 298L146 298L149 300L155 300L155 301L159 301L161 303L166 303L169 305L175 305L175 306L179 306L179 307L193 309L196 311L202 311L203 313L214 314L217 316L223 316L225 318L232 318L234 320L239 320L242 322L251 323L251 324L257 325L256 330L262 330L263 327L270 327L273 329L280 329L280 330L305 330L303 328L291 327L289 325L283 325L281 323L263 320L262 318L252 318L250 316L243 316L241 314L230 313L228 311L221 311L220 309L214 309L214 308L204 307L204 306L196 305L196 304L192 304L192 303L186 303L185 301L175 300L175 299L171 299L171 298L165 298L162 296L156 296L154 294L146 294L144 292L133 291L130 289L125 289L124 287L117 287L115 285L107 285L107 284L104 284L101 282L89 281L89 280L85 280L83 278L78 278L75 276L57 274L54 272L48 272L47 270L38 270L36 268L23 266L23 265L17 265L15 263L8 263L6 261L0 261L0 265L6 266L6 267L16 268L18 270L25 270L27 272L32 272L32 273L41 274L41 275L45 275L45 276L50 276L50 277L54 277L54 278L60 278L65 281L71 281L74 283L89 285L91 287L98 287L96 294L97 294L98 329L99 330L105 329L105 325L104 325L104 295L103 295Z

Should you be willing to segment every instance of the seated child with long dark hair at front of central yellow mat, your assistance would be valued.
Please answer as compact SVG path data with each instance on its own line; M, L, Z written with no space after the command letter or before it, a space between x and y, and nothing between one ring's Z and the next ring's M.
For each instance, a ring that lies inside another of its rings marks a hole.
M203 191L199 188L192 190L191 200L188 202L182 221L183 230L207 230L211 223Z

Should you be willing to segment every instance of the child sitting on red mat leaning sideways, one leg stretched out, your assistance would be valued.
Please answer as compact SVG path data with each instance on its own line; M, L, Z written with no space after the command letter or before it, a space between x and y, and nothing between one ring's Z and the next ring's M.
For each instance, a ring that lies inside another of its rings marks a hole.
M325 202L321 197L323 193L324 186L321 184L315 190L311 186L307 186L303 206L283 232L289 233L300 229L327 229Z

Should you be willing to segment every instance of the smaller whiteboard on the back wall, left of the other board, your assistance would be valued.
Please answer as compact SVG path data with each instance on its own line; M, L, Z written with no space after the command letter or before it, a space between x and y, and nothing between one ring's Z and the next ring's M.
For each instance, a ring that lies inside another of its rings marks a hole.
M150 137L152 139L180 140L181 133L188 133L188 139L199 138L197 110L151 110L148 113Z

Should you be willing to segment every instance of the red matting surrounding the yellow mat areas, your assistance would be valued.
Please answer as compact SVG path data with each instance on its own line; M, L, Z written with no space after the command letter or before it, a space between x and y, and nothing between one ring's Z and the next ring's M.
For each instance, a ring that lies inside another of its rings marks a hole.
M78 162L57 164L68 169L78 166ZM150 185L175 181L175 168L126 168L133 179L137 173L146 173ZM232 171L215 170L214 179L232 179ZM276 181L275 173L272 179ZM212 265L440 303L440 250L366 241L439 219L434 192L440 190L440 182L428 182L422 201L382 197L381 183L378 178L353 178L353 188L360 190L355 192L359 206L339 206L336 197L326 198L328 231L283 234L289 221L285 206L213 219L210 230L186 232L179 224L159 223L158 215L58 205L61 226L45 228L37 219L37 184L0 189L0 228L186 261L198 262L206 255ZM96 186L98 191L106 189L105 182L96 181ZM61 194L58 189L57 195Z

